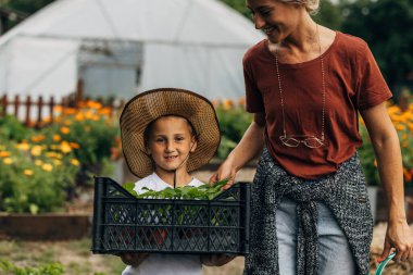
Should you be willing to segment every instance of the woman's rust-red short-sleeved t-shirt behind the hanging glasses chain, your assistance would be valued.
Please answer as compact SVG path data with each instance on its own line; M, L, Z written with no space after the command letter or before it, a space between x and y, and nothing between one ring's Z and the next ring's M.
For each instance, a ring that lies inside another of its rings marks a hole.
M325 72L325 140L311 149L283 146L281 100L275 58L267 40L253 46L243 57L247 111L264 112L265 145L274 161L288 173L316 179L335 172L362 145L358 111L377 105L391 92L365 41L337 32L322 54ZM288 135L321 138L323 82L321 57L298 64L279 63L285 127Z

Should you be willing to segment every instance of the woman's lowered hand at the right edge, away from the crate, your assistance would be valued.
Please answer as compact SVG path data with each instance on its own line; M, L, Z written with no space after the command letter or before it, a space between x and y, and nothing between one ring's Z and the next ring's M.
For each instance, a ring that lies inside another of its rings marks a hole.
M386 232L385 248L381 257L377 260L379 262L384 261L390 254L391 248L396 249L395 261L413 259L413 232L405 220L389 223Z

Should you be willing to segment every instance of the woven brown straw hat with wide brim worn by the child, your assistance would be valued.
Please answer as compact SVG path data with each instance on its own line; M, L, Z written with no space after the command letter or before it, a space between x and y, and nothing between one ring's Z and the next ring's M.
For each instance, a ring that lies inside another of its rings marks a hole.
M142 178L153 172L152 159L146 153L143 132L154 120L164 115L187 118L197 133L198 146L190 153L187 171L206 164L215 154L220 141L220 126L211 102L189 90L160 88L130 99L121 114L122 148L133 174Z

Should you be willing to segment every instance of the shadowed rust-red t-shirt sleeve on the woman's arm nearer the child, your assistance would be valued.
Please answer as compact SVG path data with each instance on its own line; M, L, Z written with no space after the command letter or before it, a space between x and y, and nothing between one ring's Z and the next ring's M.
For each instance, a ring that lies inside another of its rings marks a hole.
M252 70L243 59L243 80L246 83L246 110L250 113L264 112L264 103L261 92L256 88Z

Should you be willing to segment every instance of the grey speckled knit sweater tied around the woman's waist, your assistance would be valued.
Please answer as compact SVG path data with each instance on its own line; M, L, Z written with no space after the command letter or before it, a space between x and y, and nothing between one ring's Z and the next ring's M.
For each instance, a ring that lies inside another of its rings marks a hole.
M345 232L356 274L368 273L373 217L358 153L343 162L336 173L309 183L287 174L264 149L252 184L251 249L246 258L245 275L279 275L276 210L284 196L298 204L298 275L317 274L317 201L333 211Z

